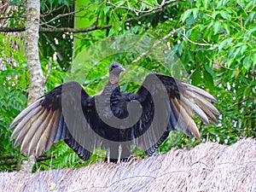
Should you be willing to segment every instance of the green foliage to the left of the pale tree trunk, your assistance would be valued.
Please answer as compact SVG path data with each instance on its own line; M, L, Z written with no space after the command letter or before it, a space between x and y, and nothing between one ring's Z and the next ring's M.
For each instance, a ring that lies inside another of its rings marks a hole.
M13 159L17 159L19 151L13 149L13 142L9 142L11 130L9 124L12 119L26 107L26 87L28 84L28 74L25 68L24 55L16 51L11 43L20 42L18 38L0 35L0 49L2 65L0 71L0 170L13 169L15 165L8 166ZM22 44L20 44L21 46ZM12 63L19 61L18 67L9 66L9 57ZM3 163L2 163L3 162ZM4 162L7 162L4 163Z

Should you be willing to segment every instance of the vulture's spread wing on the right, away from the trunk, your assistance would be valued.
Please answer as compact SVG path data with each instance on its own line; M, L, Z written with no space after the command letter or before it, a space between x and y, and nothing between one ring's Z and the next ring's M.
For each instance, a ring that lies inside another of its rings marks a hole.
M209 119L218 123L215 115L219 112L212 105L218 101L212 95L166 75L149 74L137 93L131 95L131 101L139 102L143 108L131 137L148 155L154 154L172 130L182 130L189 136L200 138L194 113L206 124Z

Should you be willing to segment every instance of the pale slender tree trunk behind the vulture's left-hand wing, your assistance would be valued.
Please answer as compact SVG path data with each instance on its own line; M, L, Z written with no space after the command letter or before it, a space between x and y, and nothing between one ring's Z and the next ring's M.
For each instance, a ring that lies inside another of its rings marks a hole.
M40 20L40 1L26 1L26 31L25 31L25 54L29 71L29 90L27 104L34 102L44 95L45 78L39 61L38 38ZM29 157L28 161L22 162L20 171L32 172L35 157Z

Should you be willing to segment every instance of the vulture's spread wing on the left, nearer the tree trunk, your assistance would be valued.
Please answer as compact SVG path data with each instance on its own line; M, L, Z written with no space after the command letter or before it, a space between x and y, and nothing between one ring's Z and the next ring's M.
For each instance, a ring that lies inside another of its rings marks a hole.
M10 128L17 125L11 136L15 147L21 144L21 153L38 156L53 143L64 140L81 159L88 160L95 141L83 112L90 112L91 98L75 81L49 91L11 123Z

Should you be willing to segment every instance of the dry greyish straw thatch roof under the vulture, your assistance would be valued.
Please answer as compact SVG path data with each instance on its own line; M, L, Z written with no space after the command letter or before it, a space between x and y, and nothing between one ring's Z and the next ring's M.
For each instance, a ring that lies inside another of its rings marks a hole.
M128 163L0 173L0 191L256 191L256 141L201 143Z

